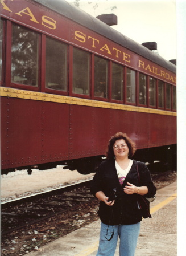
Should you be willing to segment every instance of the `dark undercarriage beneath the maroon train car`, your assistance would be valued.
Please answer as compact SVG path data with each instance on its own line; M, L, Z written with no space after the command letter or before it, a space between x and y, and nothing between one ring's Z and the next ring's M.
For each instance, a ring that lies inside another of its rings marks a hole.
M96 172L97 167L105 159L105 156L93 156L80 159L73 159L68 161L48 162L46 164L22 166L19 168L11 168L1 170L1 174L8 174L9 172L15 172L15 170L27 169L28 175L32 174L32 169L46 170L56 168L57 165L64 165L63 169L69 169L71 171L77 170L77 172L87 175L89 173ZM163 147L138 149L135 152L134 159L137 161L148 162L153 164L155 161L163 163L164 168L176 169L176 144L167 145ZM158 170L157 170L158 171Z

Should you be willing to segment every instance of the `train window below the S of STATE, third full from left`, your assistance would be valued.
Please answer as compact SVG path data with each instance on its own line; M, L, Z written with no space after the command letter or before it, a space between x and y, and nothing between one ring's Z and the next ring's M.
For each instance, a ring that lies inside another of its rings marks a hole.
M90 54L73 48L73 89L74 94L90 94Z

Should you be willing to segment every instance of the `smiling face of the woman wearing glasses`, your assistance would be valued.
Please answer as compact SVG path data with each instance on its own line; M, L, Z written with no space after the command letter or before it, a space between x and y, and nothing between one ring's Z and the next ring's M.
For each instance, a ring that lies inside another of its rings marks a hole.
M121 140L116 140L114 143L114 155L115 158L117 159L125 159L128 158L129 155L129 148L126 144L126 141L121 139Z

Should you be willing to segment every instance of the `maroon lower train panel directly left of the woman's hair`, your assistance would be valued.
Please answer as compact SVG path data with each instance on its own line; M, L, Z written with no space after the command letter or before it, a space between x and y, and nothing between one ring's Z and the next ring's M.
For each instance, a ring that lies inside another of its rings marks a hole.
M103 155L110 137L109 109L71 105L70 159Z

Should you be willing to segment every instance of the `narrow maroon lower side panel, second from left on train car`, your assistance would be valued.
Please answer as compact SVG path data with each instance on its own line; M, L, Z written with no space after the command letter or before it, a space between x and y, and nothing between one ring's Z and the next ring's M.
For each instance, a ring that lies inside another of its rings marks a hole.
M69 159L69 105L43 102L41 120L43 161Z

